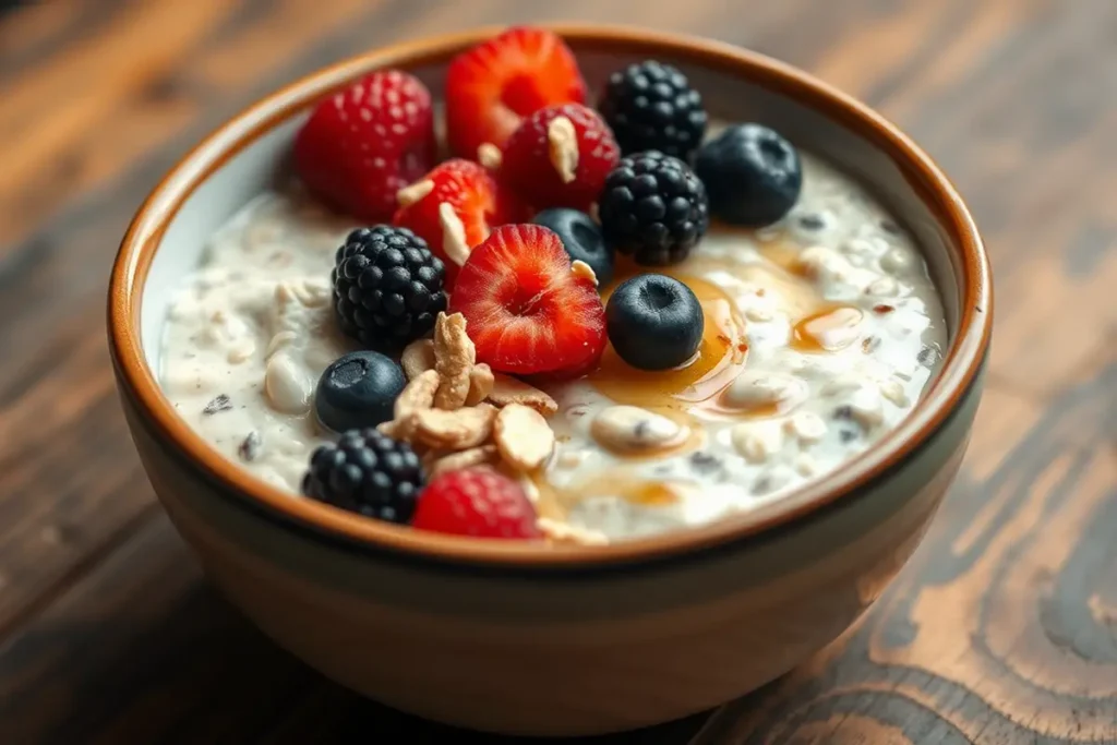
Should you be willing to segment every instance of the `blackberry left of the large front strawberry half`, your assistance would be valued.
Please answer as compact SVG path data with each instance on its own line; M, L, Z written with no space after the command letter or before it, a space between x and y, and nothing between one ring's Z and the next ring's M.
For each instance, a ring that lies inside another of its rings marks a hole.
M407 228L354 230L330 279L342 331L372 350L393 352L426 336L446 309L446 267Z

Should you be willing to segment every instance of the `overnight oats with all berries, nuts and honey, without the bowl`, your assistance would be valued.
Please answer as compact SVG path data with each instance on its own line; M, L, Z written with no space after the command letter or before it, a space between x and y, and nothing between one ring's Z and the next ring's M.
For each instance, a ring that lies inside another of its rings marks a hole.
M915 407L942 305L851 179L653 60L592 109L545 30L446 86L456 157L374 73L184 279L162 385L226 457L369 519L598 544L780 499Z

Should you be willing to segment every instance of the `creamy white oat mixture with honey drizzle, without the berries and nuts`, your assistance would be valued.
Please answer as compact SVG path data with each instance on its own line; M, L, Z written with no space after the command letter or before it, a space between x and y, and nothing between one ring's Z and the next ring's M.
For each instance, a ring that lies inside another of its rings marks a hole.
M946 343L924 261L862 189L802 160L786 218L715 225L662 271L703 302L698 360L645 373L607 350L589 379L546 386L560 409L532 490L541 515L611 539L714 520L833 470L915 405ZM259 197L213 237L166 321L161 374L180 413L293 495L328 438L318 375L354 348L330 304L353 227L297 190Z

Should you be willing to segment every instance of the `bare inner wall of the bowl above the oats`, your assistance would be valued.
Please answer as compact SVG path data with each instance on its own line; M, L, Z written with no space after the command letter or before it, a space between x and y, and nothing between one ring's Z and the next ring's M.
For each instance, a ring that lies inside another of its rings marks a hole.
M595 49L579 50L577 45L574 46L582 71L594 92L601 89L612 70L638 59ZM767 124L867 185L920 246L943 296L953 341L961 309L957 257L949 250L946 232L935 216L885 152L825 114L741 77L695 66L685 59L672 59L669 55L660 59L677 65L690 77L703 93L712 116ZM439 97L442 66L412 71ZM185 200L171 220L152 261L141 306L144 356L156 375L163 321L178 288L201 261L209 236L286 170L292 140L304 120L305 114L287 120L241 149ZM247 131L248 124L244 126Z

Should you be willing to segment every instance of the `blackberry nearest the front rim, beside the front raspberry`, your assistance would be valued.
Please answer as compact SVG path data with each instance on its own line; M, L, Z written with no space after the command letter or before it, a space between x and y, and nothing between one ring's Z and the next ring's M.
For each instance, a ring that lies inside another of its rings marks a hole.
M311 455L303 494L366 517L407 523L422 485L422 467L411 446L361 429Z

